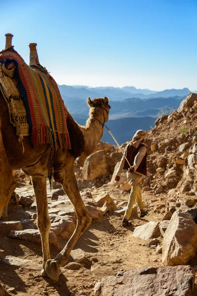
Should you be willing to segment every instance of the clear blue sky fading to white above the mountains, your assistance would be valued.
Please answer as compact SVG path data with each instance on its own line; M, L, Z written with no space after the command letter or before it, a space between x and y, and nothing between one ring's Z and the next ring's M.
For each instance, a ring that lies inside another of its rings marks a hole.
M5 33L59 84L197 90L197 0L0 0Z

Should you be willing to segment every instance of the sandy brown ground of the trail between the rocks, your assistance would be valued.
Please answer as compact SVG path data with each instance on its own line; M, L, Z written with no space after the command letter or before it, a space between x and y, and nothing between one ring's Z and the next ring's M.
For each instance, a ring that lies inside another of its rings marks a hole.
M118 202L128 200L129 193L121 194L118 189L114 189L114 192ZM164 198L164 195L156 197L150 192L143 193L143 201L149 212L155 204L161 203L161 197ZM133 225L161 221L163 216L164 214L151 212L143 219L133 220ZM155 248L149 248L148 241L133 237L133 229L132 226L122 227L121 217L113 213L106 213L100 222L93 222L74 247L85 251L87 258L85 266L78 271L62 267L58 282L40 276L42 262L40 245L1 235L0 248L5 250L5 255L31 259L35 270L14 269L0 262L0 283L10 295L93 296L92 290L96 281L104 276L116 275L120 270L162 265L162 255L156 254ZM162 242L162 237L160 240ZM65 241L59 240L59 246L61 250L65 246ZM51 257L54 258L60 250L52 247ZM40 269L36 267L37 263L40 264ZM192 264L197 264L197 259Z

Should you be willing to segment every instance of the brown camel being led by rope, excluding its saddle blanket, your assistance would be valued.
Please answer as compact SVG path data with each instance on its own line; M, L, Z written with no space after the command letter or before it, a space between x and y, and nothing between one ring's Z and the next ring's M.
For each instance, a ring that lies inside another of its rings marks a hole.
M60 267L66 263L69 254L80 235L90 225L92 218L80 196L75 174L74 160L77 156L89 156L97 147L103 135L104 123L108 120L108 98L88 98L90 107L89 119L86 126L80 126L67 113L67 127L71 142L70 150L53 150L50 144L42 144L32 148L29 136L24 137L23 146L19 143L15 127L10 123L7 103L0 93L0 217L6 216L6 208L13 194L16 183L12 170L22 169L32 176L33 188L37 207L37 226L42 243L42 276L48 276L58 281L61 273ZM72 202L76 216L76 228L64 249L56 256L50 258L49 231L50 220L46 191L46 177L50 167L51 157L54 167L54 180L61 183L65 193Z

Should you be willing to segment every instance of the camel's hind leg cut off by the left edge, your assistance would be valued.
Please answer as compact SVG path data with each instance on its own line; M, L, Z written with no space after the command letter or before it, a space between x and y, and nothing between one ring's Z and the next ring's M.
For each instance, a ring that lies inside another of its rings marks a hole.
M6 216L7 213L3 213L3 208L7 208L10 197L15 189L16 183L14 182L12 168L5 153L0 131L0 217Z

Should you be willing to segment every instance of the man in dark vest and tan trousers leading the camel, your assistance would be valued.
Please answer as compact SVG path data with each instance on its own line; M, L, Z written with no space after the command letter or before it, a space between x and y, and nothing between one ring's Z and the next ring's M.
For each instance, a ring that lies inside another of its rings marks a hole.
M128 169L127 179L132 186L127 209L122 221L123 226L132 225L132 223L129 222L129 219L135 200L140 209L140 217L143 218L148 214L148 212L144 210L145 206L142 202L140 189L140 186L143 184L143 176L146 176L147 146L143 144L144 138L145 132L143 130L136 131L132 141L126 146L124 152L131 167L123 155L115 177L115 181L118 182L120 180L122 169Z

